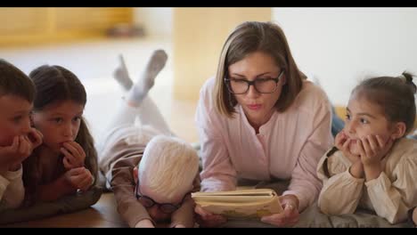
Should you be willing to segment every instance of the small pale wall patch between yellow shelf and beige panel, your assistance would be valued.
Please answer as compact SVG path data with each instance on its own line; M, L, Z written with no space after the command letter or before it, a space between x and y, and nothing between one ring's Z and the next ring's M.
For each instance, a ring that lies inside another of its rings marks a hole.
M147 36L172 35L172 7L135 7L134 19Z

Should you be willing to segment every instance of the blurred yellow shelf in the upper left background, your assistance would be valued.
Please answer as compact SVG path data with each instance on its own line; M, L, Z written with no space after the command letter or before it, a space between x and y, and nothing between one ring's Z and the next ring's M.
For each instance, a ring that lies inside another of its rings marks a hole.
M33 45L105 36L106 30L133 22L128 7L0 8L0 45Z

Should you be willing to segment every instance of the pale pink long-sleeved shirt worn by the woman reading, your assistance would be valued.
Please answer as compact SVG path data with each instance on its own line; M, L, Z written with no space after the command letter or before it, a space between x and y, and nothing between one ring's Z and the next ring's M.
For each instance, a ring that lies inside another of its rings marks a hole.
M195 116L203 164L201 190L234 190L236 176L291 179L283 195L295 194L300 211L315 202L322 188L316 166L333 143L331 104L323 90L305 81L290 108L274 112L256 134L241 105L234 118L217 112L214 85L210 78L201 88Z

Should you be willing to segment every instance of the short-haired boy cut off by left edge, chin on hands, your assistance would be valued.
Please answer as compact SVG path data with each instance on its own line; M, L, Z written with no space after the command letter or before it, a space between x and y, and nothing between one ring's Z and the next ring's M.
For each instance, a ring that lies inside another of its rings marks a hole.
M42 142L30 127L35 87L20 69L0 60L0 211L20 207L25 190L21 162Z

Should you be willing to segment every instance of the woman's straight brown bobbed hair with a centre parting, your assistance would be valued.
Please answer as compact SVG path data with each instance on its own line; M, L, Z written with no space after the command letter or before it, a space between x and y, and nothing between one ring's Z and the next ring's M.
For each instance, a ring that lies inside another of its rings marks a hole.
M290 46L282 28L272 22L247 21L239 25L227 37L217 66L215 85L215 106L219 113L233 118L234 106L237 104L233 94L225 85L225 75L230 65L241 61L249 53L261 52L274 58L276 64L284 71L286 84L275 108L279 112L289 108L302 87L302 80L307 77L297 67L290 53Z

